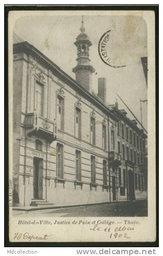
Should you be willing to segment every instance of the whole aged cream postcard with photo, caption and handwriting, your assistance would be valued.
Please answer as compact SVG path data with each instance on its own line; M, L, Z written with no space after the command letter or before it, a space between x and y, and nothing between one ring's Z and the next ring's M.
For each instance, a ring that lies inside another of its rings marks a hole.
M154 242L155 13L10 11L10 242Z

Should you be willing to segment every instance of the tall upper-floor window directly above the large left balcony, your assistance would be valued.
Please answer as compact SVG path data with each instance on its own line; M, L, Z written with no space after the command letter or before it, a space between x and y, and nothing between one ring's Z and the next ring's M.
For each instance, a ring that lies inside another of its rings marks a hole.
M44 115L44 85L36 81L35 90L35 109L37 109L38 115Z

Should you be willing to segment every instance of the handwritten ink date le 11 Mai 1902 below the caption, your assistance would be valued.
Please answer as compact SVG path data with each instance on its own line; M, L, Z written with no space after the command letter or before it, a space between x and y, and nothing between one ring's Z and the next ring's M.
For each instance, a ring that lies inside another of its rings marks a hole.
M104 232L109 232L109 238L119 238L119 237L124 237L124 238L131 238L127 235L127 233L118 233L119 231L125 231L125 230L134 230L134 227L131 227L131 228L125 228L124 227L116 227L114 229L114 233L110 233L111 231L111 228L104 228L104 229L101 229L101 227L98 225L98 224L95 224L93 228L90 228L90 230L93 230L93 231L104 231Z

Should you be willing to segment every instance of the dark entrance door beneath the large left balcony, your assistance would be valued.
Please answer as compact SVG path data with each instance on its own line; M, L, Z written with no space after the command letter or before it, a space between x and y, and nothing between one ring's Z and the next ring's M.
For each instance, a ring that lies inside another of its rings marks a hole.
M43 198L43 160L34 158L34 198Z

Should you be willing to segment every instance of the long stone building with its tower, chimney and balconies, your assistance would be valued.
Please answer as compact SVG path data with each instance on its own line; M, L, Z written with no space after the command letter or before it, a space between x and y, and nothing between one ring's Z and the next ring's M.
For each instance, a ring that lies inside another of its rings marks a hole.
M107 105L105 78L98 79L98 95L92 92L92 44L83 23L75 45L76 81L28 42L13 45L13 205L147 198L145 165L126 159L129 147L140 161L144 146L130 143L122 125L142 145L146 135Z

